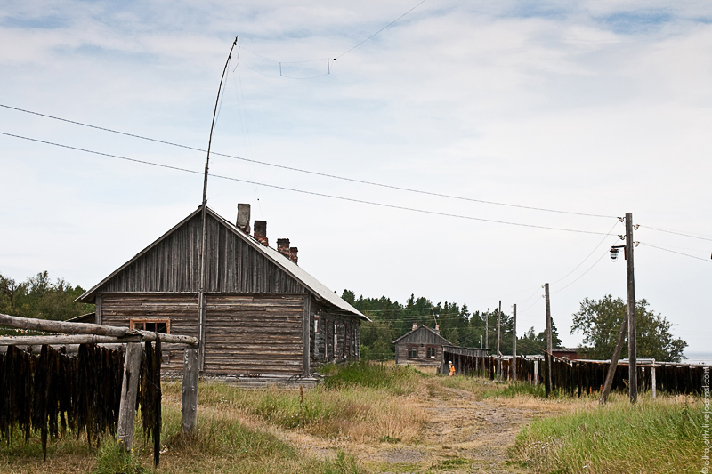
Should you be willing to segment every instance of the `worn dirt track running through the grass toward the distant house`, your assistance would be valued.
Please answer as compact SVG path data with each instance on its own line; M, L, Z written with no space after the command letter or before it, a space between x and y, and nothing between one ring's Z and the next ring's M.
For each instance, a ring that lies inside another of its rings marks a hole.
M290 440L311 454L331 456L343 449L376 472L524 473L526 469L511 462L507 454L517 433L536 416L566 409L532 398L481 399L470 391L434 383L428 389L428 397L409 400L426 420L415 442L327 444L323 438L303 435Z

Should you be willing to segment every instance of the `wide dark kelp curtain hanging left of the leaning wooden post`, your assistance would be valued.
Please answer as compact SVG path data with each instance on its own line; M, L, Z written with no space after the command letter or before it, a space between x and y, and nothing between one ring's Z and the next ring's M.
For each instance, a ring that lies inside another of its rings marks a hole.
M116 433L123 372L123 349L82 344L72 358L46 345L39 357L9 346L0 355L0 439L12 446L15 428L25 441L39 432L45 460L47 439L68 429L98 446Z

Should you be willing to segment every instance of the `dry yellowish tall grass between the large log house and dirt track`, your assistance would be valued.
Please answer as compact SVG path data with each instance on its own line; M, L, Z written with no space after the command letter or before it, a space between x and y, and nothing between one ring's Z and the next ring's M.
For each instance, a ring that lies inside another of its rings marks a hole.
M400 395L425 393L417 384L422 376L409 367L361 363L339 369L314 390L243 390L203 383L198 404L256 415L280 428L323 438L405 442L417 438L425 415ZM180 386L168 385L166 390L177 394Z

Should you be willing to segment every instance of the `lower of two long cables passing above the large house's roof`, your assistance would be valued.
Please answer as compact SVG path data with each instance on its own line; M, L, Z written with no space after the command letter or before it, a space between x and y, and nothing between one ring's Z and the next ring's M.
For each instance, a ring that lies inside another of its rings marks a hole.
M44 140L39 140L35 138L29 138L21 135L15 135L13 133L4 133L0 132L0 134L9 136L9 137L14 137L14 138L19 138L22 140L27 140L27 141L36 141L38 143L44 143L47 145L53 145L55 147L61 147L64 149L75 149L77 151L83 151L85 153L92 153L94 155L99 155L101 157L111 157L111 158L117 158L125 161L131 161L134 163L141 163L143 165L152 165L152 166L158 166L162 168L168 168L168 169L173 169L176 171L182 171L186 173L196 173L196 174L204 174L204 172L199 172L195 170L189 170L187 168L182 168L179 166L173 166L173 165L162 165L159 163L154 163L150 161L145 161L145 160L140 160L136 158L129 158L129 157L120 157L118 155L112 155L109 153L102 153L101 151L94 151L91 149L80 149L78 147L72 147L69 145L62 145L61 143L56 143L53 141L44 141ZM545 230L557 230L557 231L562 231L562 232L573 232L573 233L578 233L578 234L591 234L591 235L598 235L598 236L603 236L606 235L603 232L596 232L594 230L583 230L583 229L566 229L566 228L560 228L560 227L549 227L549 226L540 226L536 224L524 224L522 222L513 222L513 221L498 221L496 219L484 219L481 217L474 217L474 216L467 216L467 215L462 215L462 214L454 214L454 213L440 213L437 211L427 211L425 209L417 209L415 207L408 207L404 205L389 205L389 204L384 204L384 203L377 203L375 201L367 201L365 199L354 199L352 197L342 197L342 196L334 196L330 194L325 194L325 193L318 193L315 191L305 191L303 189L294 189L294 188L287 188L285 186L277 186L275 184L267 184L263 182L257 182L257 181L247 181L247 180L240 180L239 178L232 178L231 176L223 176L221 174L214 174L214 173L209 173L209 176L213 176L214 178L220 178L223 180L229 180L229 181L239 181L239 182L246 182L248 184L255 184L258 186L264 186L267 188L273 188L273 189L283 189L286 191L292 191L292 192L297 192L297 193L302 193L302 194L308 194L312 196L319 196L319 197L329 197L332 199L339 199L342 201L350 201L353 203L360 203L360 204L367 204L367 205L377 205L380 207L387 207L391 209L400 209L402 211L411 211L414 213L426 213L426 214L431 214L431 215L440 215L443 217L455 217L457 219L465 219L468 221L481 221L481 222L491 222L491 223L496 223L496 224L506 224L506 225L512 225L512 226L517 226L517 227L526 227L530 229L545 229ZM610 234L608 234L610 235Z

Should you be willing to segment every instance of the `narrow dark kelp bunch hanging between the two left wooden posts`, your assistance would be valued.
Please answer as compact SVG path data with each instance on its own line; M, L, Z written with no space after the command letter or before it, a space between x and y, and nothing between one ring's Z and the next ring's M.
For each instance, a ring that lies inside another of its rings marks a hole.
M143 436L153 438L153 462L158 466L161 440L161 341L151 347L146 341L141 359L141 382L137 401L141 404Z

